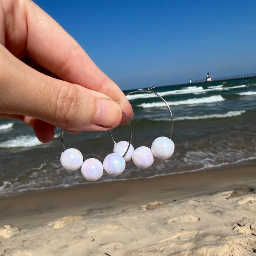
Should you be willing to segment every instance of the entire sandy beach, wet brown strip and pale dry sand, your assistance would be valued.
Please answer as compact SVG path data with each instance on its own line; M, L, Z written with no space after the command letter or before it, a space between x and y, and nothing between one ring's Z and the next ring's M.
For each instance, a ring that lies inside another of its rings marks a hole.
M3 256L256 255L256 167L0 199Z

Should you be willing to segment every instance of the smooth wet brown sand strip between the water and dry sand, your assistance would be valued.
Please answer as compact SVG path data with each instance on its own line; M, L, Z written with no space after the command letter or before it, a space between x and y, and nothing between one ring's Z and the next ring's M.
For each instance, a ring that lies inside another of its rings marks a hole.
M211 192L255 187L256 166L184 172L136 180L63 188L0 199L0 227L32 228L66 215L127 210L147 201L181 200ZM29 220L28 220L29 217Z

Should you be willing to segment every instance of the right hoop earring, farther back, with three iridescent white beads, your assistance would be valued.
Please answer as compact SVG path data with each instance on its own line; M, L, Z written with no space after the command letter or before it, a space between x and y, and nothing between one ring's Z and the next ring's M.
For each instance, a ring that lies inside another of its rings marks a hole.
M145 147L145 146L140 146L138 148L136 148L134 150L134 152L132 153L132 160L134 162L134 164L142 169L148 168L149 166L151 166L154 162L154 157L157 157L158 159L168 159L169 157L172 156L174 149L175 149L175 145L173 143L173 141L171 140L172 137L172 131L173 131L173 117L172 117L172 111L168 105L168 103L157 93L155 93L153 91L153 88L155 86L151 86L150 88L148 88L147 90L136 90L130 93L125 94L125 96L128 96L132 93L153 93L155 96L157 96L158 98L160 98L166 105L166 107L169 110L170 116L171 116L171 121L172 121L172 128L171 128L171 133L169 134L169 137L158 137L156 138L152 145L151 148ZM111 134L111 130L110 130L110 134ZM112 140L116 145L118 145L118 143L115 143L113 136L111 134ZM122 143L123 145L127 145L128 142L119 142ZM126 144L125 144L126 143ZM121 149L116 148L115 150L115 146L114 146L114 152L118 153L118 154L122 154L122 152L125 150L125 147L121 147ZM127 147L127 146L126 146ZM131 145L132 147L132 145ZM130 147L130 149L131 149ZM132 147L133 148L133 147Z

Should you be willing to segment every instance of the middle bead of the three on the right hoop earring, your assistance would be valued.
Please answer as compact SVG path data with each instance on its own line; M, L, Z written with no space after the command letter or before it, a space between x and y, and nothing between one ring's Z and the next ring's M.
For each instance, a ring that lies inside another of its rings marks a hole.
M154 155L150 148L142 146L134 150L132 160L136 166L144 169L153 164Z

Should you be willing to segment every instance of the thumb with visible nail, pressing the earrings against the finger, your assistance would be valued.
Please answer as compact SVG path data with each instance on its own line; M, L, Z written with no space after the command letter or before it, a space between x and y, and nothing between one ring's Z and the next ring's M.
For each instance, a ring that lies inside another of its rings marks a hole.
M39 73L2 46L0 55L0 113L72 131L104 131L120 123L122 111L109 96Z

